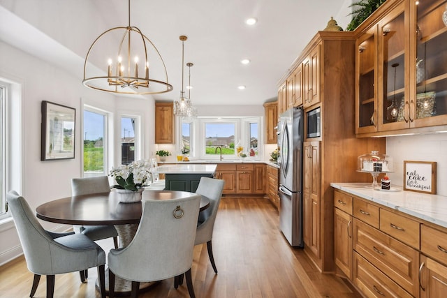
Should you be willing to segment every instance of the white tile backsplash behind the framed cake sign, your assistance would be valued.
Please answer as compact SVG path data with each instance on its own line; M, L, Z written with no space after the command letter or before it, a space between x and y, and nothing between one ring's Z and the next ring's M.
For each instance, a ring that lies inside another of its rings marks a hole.
M447 196L447 133L386 138L386 154L393 157L391 184L403 186L404 161L437 162L437 194Z

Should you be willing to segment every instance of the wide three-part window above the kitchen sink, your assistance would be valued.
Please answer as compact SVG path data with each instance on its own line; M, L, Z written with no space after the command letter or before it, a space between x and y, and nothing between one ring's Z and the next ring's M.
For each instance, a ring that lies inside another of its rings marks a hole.
M221 147L222 156L227 160L238 158L236 147L241 147L252 159L262 156L258 147L261 117L181 119L179 127L179 150L190 146L192 158L219 159L217 147Z

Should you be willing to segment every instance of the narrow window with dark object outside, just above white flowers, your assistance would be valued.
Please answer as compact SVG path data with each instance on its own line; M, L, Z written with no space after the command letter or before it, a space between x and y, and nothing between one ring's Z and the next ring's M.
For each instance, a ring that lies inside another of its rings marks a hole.
M121 118L121 163L129 165L135 161L135 125L137 119L133 117ZM137 155L138 158L138 155Z

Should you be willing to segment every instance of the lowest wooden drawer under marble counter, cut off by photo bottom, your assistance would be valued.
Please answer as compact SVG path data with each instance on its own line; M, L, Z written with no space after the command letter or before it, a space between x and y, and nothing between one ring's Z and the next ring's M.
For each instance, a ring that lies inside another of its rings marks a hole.
M354 284L365 297L413 297L358 253L353 262Z

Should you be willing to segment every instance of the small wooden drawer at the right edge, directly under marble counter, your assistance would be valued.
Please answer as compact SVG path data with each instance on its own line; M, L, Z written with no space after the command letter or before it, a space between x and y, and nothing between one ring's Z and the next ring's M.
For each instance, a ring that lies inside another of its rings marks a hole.
M447 264L447 233L420 225L420 251Z

